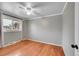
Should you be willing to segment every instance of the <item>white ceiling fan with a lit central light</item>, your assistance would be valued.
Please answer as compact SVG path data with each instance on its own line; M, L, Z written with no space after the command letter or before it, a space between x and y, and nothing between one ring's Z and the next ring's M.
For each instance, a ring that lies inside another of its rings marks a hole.
M32 6L31 3L27 2L19 2L20 3L20 7L21 9L23 9L25 11L25 13L27 15L41 15L40 11L37 7L39 7L38 5Z

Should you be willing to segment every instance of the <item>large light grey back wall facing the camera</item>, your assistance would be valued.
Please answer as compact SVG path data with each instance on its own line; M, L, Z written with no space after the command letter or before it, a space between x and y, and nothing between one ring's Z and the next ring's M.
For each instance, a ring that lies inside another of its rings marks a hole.
M30 38L47 43L62 44L62 15L29 21Z

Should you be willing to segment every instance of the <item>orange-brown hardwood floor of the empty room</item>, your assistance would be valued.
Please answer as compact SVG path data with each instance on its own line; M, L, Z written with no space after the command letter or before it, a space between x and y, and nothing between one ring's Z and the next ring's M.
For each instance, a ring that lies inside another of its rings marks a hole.
M0 48L0 56L64 56L64 52L59 46L23 40Z

